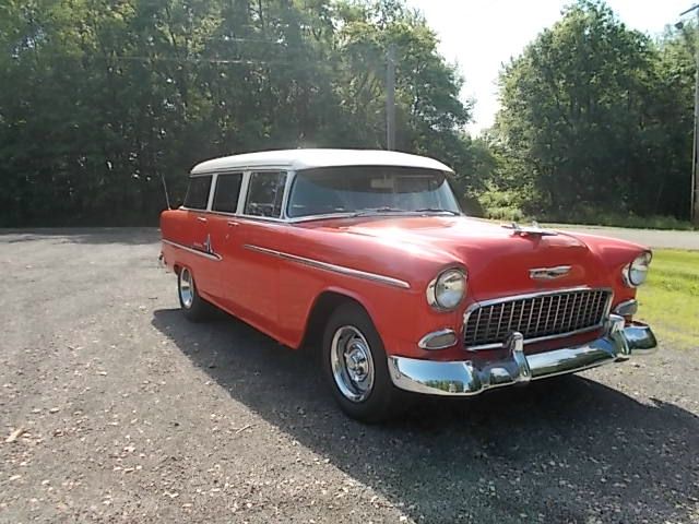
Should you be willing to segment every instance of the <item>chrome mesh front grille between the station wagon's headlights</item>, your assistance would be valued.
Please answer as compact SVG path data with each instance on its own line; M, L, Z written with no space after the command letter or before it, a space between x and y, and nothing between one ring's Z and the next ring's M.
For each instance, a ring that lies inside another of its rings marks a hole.
M524 343L582 333L600 327L607 314L608 289L566 289L506 297L476 303L466 312L464 345L469 349L499 347L518 331Z

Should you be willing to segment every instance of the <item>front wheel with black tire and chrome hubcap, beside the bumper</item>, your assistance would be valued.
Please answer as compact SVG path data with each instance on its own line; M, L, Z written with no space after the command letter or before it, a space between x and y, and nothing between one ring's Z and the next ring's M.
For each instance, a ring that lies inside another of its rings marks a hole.
M400 391L389 377L383 343L359 306L342 305L330 317L322 366L335 401L350 417L378 422L398 414Z

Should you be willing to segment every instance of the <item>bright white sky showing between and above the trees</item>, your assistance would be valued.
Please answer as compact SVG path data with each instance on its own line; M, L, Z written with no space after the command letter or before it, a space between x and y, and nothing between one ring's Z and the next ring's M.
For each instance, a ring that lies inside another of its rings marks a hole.
M419 9L440 39L440 52L465 79L461 93L475 100L477 133L493 124L498 110L497 78L502 63L560 17L564 0L407 0ZM679 20L692 0L607 0L629 27L651 36Z

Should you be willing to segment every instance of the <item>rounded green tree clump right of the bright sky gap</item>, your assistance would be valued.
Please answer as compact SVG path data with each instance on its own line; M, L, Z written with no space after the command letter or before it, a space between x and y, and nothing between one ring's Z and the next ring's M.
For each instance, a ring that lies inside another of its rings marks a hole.
M694 68L682 35L655 43L603 2L567 8L501 72L499 187L559 218L686 217Z

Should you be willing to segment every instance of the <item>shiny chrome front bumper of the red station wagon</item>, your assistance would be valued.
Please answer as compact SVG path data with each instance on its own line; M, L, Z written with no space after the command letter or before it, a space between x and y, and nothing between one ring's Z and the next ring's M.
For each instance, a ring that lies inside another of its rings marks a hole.
M477 395L486 390L526 383L531 380L574 373L631 355L652 353L657 343L651 329L641 323L625 325L623 317L612 314L606 334L587 344L524 355L523 338L512 333L506 355L488 360L473 353L470 360L438 361L389 356L389 373L396 388L428 395Z

